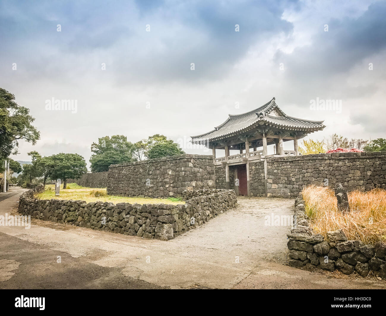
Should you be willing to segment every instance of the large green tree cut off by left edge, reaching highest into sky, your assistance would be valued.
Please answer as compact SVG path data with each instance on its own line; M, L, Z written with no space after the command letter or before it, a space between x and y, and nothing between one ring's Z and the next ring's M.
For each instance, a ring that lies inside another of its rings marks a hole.
M29 109L15 102L15 96L0 88L0 158L5 159L10 154L17 154L19 140L36 144L40 139L39 131L32 126L35 118L29 114Z

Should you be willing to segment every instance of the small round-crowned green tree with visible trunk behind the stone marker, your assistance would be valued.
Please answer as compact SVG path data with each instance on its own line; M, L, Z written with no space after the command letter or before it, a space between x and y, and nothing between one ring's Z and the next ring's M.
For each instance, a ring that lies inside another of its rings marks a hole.
M78 154L51 155L52 179L63 180L63 189L67 188L67 179L78 179L87 172L85 159Z

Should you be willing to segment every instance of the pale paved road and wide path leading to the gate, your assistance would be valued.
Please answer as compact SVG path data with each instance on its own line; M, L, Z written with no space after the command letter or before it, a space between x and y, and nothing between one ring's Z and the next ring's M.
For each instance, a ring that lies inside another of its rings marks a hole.
M0 215L23 189L12 191ZM0 288L386 287L283 265L289 226L267 226L265 216L289 216L292 206L289 199L240 198L237 209L168 242L39 220L29 230L0 226Z

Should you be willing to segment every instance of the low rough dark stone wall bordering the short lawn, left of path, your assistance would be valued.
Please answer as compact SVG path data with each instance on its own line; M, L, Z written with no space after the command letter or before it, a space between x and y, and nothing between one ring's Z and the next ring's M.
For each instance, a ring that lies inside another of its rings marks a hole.
M212 194L191 198L185 204L141 205L34 198L34 194L43 189L39 186L23 193L19 213L40 220L161 240L197 228L237 204L233 190L214 190Z

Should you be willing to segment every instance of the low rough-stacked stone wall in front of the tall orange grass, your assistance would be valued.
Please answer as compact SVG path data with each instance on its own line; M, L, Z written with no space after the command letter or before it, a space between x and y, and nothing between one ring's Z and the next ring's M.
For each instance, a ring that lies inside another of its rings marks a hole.
M356 272L366 277L370 271L375 276L386 277L386 243L364 245L359 240L347 240L342 229L327 232L328 240L313 234L304 200L299 194L295 200L296 228L288 234L289 262L293 267L318 267L344 274Z

